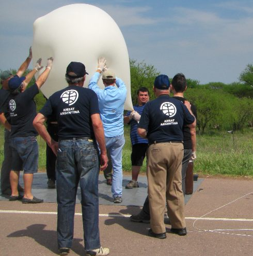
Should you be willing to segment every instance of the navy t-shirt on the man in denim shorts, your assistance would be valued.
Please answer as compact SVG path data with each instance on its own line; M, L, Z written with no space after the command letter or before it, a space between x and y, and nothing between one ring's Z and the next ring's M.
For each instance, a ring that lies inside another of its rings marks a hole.
M17 95L10 94L8 107L10 113L11 137L37 136L38 133L33 126L37 115L34 97L39 93L37 84Z

